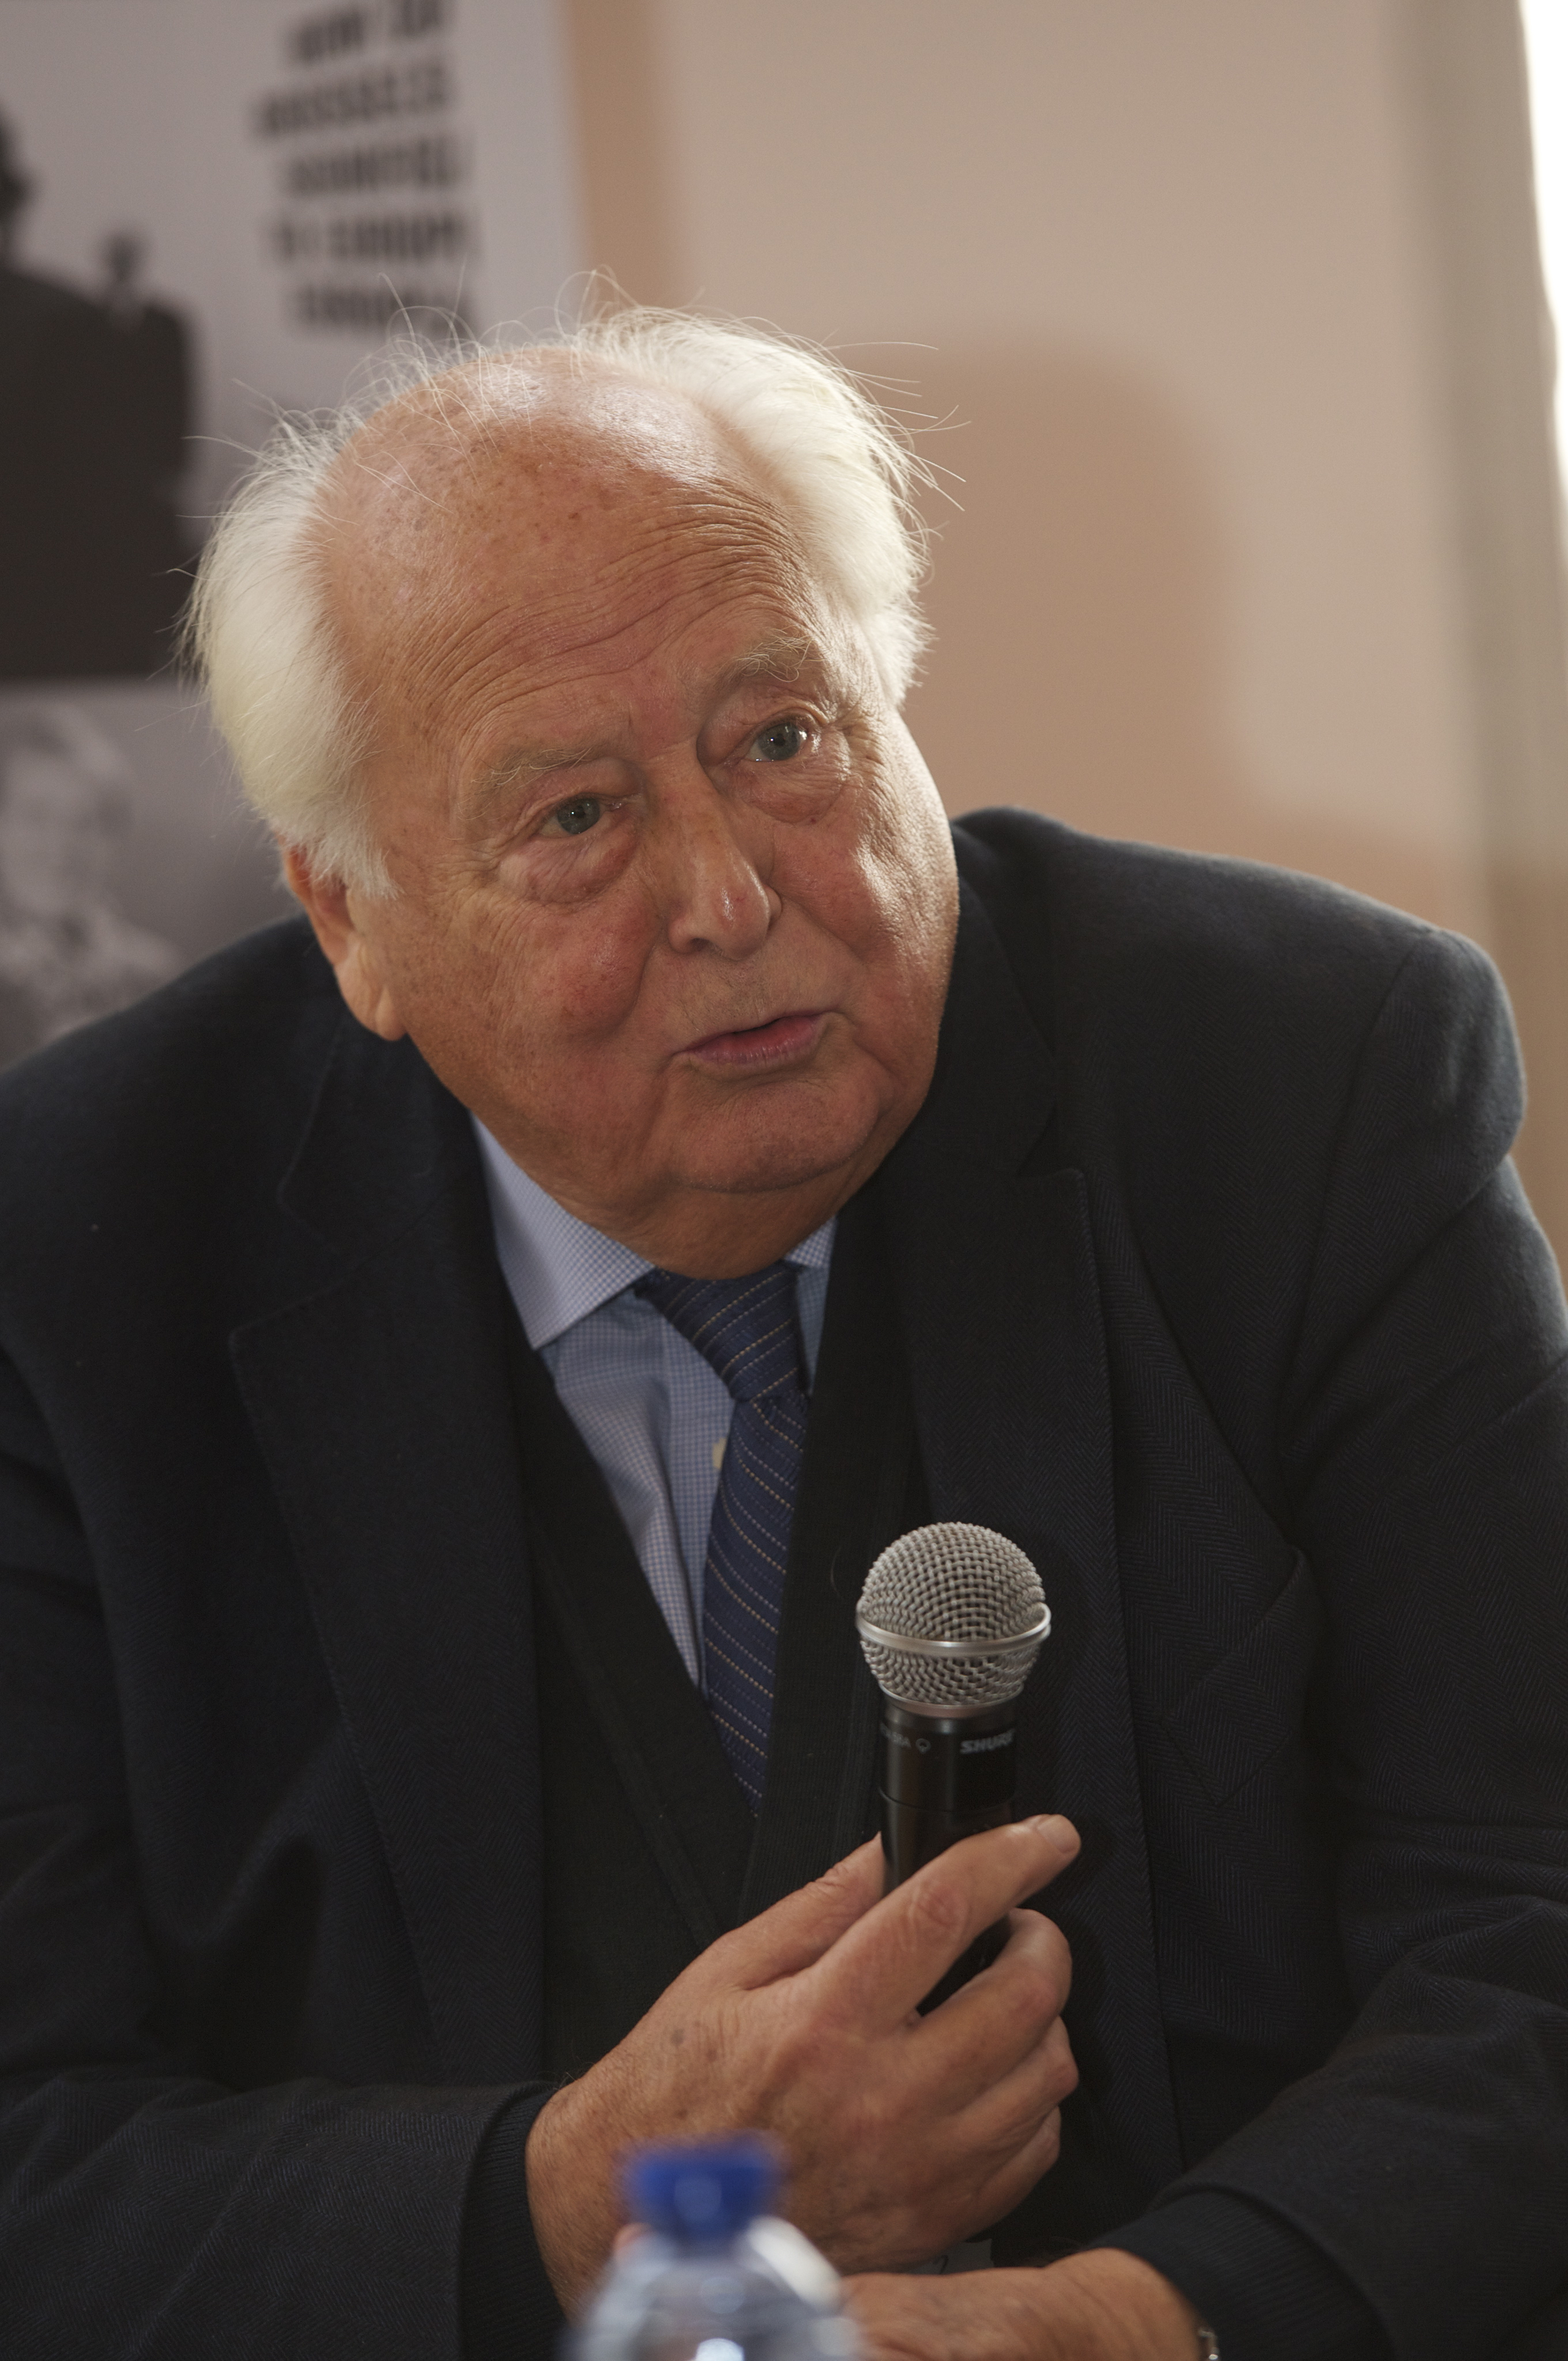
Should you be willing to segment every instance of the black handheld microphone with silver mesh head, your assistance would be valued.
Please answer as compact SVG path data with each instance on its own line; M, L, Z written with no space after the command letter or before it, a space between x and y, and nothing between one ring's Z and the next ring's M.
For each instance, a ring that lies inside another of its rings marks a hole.
M883 1693L881 1837L890 1894L961 1837L1013 1818L1018 1695L1051 1629L1023 1549L989 1525L919 1525L867 1575L855 1627ZM978 1934L921 2012L989 1967Z

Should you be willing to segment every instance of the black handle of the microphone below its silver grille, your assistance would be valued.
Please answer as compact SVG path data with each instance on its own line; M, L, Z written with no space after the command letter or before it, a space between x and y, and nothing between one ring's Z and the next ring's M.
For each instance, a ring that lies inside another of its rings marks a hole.
M883 1695L881 1834L883 1894L963 1837L1004 1827L1013 1818L1018 1780L1018 1700L978 1714L921 1714ZM1008 1938L1006 1919L985 1927L921 2000L937 2009L959 1986L989 1967Z

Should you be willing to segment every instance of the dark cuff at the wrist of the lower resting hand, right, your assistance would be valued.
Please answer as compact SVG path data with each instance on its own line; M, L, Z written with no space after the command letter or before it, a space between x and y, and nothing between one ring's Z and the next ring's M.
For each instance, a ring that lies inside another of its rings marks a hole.
M1096 2245L1162 2271L1214 2330L1221 2361L1389 2361L1372 2307L1339 2264L1247 2198L1195 2189Z

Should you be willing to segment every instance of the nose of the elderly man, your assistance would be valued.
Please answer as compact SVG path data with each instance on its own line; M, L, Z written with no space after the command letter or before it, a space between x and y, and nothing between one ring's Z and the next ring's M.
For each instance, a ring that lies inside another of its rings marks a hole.
M765 822L708 779L692 753L654 784L652 871L675 951L749 959L782 904Z

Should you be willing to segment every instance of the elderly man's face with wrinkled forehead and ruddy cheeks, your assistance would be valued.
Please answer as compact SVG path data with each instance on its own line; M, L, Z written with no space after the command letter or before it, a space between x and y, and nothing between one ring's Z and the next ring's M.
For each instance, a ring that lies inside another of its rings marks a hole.
M758 1268L930 1081L956 885L914 741L682 404L560 387L425 501L368 465L331 583L397 895L307 890L349 1003L579 1218Z

